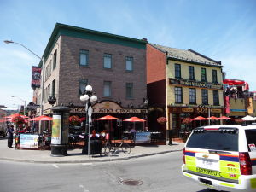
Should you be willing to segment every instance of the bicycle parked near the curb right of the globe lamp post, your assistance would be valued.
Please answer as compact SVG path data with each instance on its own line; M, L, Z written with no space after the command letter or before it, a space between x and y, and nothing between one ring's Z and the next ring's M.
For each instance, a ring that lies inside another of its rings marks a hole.
M125 143L125 140L128 140L128 138L127 137L122 138L121 143L116 142L116 140L113 140L113 142L110 140L107 140L106 143L104 144L104 154L118 154L119 148L124 154L130 154L131 146L129 145L129 143Z

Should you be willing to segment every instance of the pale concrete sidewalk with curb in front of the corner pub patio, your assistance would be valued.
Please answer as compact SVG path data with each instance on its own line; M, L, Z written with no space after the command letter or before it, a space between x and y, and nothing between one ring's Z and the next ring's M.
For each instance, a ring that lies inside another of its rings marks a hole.
M51 157L50 150L25 150L7 147L7 139L0 139L0 160L10 160L16 162L30 162L30 163L92 163L104 162L113 160L129 160L132 158L139 158L143 156L165 154L173 151L182 151L184 144L172 142L172 145L148 145L135 146L131 148L131 154L104 155L102 157L97 154L96 157L88 157L82 154L82 149L68 149L65 157Z

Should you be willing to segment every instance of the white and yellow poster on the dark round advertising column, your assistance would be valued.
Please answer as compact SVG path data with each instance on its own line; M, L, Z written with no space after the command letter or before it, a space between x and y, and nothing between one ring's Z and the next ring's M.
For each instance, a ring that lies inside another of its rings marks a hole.
M51 144L61 144L61 115L53 115Z

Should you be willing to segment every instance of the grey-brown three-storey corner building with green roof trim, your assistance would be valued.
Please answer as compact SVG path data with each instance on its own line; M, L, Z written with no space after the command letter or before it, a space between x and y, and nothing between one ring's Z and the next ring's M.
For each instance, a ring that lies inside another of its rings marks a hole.
M98 97L92 119L106 114L146 119L146 44L145 40L57 23L43 55L44 114L52 113L47 99L55 96L55 106L72 107L72 114L84 116L79 96L90 84ZM36 89L38 105L41 96L42 89ZM40 113L38 108L37 116Z

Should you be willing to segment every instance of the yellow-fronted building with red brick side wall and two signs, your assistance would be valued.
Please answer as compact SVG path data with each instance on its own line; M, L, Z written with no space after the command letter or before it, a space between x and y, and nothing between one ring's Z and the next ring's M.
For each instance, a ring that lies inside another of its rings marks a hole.
M180 137L183 119L223 115L222 67L191 49L147 44L148 126ZM166 127L157 123L160 116L166 117ZM198 125L193 122L190 129Z

